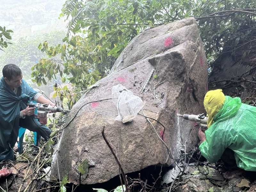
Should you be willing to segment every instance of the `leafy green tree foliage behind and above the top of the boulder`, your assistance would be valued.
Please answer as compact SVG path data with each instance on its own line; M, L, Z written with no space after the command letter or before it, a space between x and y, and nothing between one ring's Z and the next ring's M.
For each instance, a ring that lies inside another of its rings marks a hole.
M187 17L196 18L210 63L227 42L236 46L250 36L255 14L248 0L67 0L60 16L68 20L69 33L63 44L39 45L50 59L41 60L32 76L38 84L45 84L44 77L51 80L59 74L62 82L68 80L83 93L108 74L134 36ZM57 54L61 60L51 59Z

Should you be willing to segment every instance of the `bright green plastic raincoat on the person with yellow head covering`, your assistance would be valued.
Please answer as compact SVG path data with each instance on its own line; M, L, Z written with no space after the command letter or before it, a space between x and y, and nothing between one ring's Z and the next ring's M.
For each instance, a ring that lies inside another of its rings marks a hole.
M230 148L239 168L256 171L256 107L241 103L238 97L225 97L214 123L205 131L206 140L199 146L201 153L216 163Z

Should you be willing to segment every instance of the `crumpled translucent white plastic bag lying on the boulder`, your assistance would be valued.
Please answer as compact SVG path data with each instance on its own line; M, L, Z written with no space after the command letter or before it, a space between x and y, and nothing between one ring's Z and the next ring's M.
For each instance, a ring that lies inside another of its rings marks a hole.
M121 84L113 86L112 100L118 111L118 116L115 120L123 123L132 121L144 106L140 97L133 95L131 91Z

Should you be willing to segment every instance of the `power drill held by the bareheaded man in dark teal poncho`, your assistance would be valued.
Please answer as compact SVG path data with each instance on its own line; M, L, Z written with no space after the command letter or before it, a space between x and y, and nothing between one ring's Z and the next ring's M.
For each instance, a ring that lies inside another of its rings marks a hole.
M69 111L64 110L61 107L52 107L48 103L41 104L41 103L28 103L29 107L36 107L37 108L37 114L33 115L33 118L38 119L41 125L47 124L47 113L49 111L52 111L53 113L56 112L62 112L62 111Z

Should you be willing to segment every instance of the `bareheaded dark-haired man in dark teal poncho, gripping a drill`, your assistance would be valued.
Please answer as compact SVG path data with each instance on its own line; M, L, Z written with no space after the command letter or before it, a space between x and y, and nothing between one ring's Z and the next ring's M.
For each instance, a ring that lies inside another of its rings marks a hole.
M3 68L3 77L0 80L0 161L14 160L12 148L17 142L19 127L37 132L45 140L50 138L51 129L41 125L31 116L35 108L28 107L28 102L48 103L52 101L31 88L24 79L17 65L8 64Z

